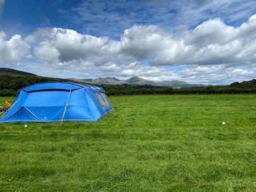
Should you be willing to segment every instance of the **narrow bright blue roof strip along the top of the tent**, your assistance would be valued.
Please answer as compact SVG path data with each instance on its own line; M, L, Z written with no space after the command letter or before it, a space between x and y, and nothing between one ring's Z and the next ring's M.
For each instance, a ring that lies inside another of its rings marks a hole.
M36 85L24 87L22 90L26 92L32 92L36 90L78 90L86 85L80 85L72 82L43 82Z

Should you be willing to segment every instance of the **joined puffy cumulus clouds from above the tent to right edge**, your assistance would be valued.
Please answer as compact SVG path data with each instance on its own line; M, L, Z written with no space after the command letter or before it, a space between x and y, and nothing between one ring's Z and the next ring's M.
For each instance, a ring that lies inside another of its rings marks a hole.
M151 65L246 65L256 63L255 31L256 19L251 16L236 28L215 18L178 34L159 26L133 26L120 41L62 28L40 29L26 40L36 42L36 57L48 63L82 59L97 66L145 61Z

